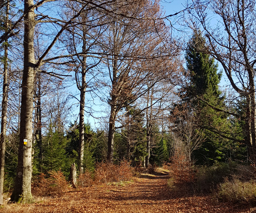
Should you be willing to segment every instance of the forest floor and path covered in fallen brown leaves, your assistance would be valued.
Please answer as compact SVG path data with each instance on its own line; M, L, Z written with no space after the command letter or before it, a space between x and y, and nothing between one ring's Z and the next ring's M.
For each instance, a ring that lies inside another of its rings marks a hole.
M34 204L4 205L0 213L256 213L248 205L217 203L184 187L170 189L167 172L143 174L126 184L70 189Z

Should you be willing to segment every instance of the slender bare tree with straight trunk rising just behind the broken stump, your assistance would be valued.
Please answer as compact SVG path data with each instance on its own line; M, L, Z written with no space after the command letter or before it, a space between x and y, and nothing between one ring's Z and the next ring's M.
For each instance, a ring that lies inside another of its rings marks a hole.
M71 3L73 9L78 9L81 5ZM85 112L85 94L93 92L94 78L97 75L95 67L100 63L100 59L93 57L97 39L101 34L99 12L93 9L85 8L81 16L77 18L73 29L67 32L63 38L63 42L67 43L67 49L71 57L70 63L67 64L68 69L74 71L76 86L79 89L80 100L79 105L79 171L84 170L84 112ZM67 39L67 38L68 39ZM67 41L65 40L67 39ZM81 53L81 55L79 54ZM95 72L94 72L95 71ZM89 91L87 91L89 90Z

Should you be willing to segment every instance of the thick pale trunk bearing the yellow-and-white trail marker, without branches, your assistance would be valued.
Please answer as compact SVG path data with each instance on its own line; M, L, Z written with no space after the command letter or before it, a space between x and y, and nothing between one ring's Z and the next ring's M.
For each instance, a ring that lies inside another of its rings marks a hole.
M35 80L33 0L24 1L24 66L20 109L20 143L15 187L10 201L31 202L32 177L32 114ZM24 140L27 142L24 143Z

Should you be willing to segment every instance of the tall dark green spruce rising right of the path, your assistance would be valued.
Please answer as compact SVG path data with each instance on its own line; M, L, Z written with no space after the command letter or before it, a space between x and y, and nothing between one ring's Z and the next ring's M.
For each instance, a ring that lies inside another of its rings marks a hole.
M228 141L212 132L227 130L227 116L216 112L211 106L224 109L224 97L218 83L221 73L214 58L204 52L205 39L201 32L194 32L186 50L186 66L189 72L189 85L183 95L183 101L194 109L195 122L205 138L204 143L195 150L194 157L198 163L213 164L224 159ZM208 103L208 104L207 104Z

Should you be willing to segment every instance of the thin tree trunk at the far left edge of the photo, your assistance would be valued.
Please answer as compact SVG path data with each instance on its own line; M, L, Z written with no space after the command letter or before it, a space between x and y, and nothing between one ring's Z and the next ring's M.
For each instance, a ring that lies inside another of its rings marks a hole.
M6 6L6 30L9 27L9 1ZM3 204L3 181L4 181L4 158L6 149L6 116L7 116L7 98L8 98L8 40L4 47L4 65L3 65L3 99L2 99L2 117L0 134L0 205Z

